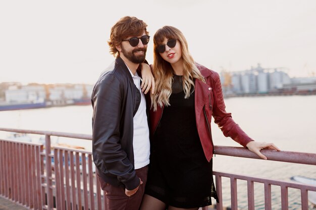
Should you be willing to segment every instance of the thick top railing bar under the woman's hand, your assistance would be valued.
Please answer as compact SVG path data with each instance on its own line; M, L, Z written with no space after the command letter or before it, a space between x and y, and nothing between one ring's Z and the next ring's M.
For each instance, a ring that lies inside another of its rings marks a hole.
M216 155L260 159L254 153L242 147L215 146L215 151ZM314 153L275 150L261 150L260 152L267 156L268 160L270 161L316 165L316 154Z

